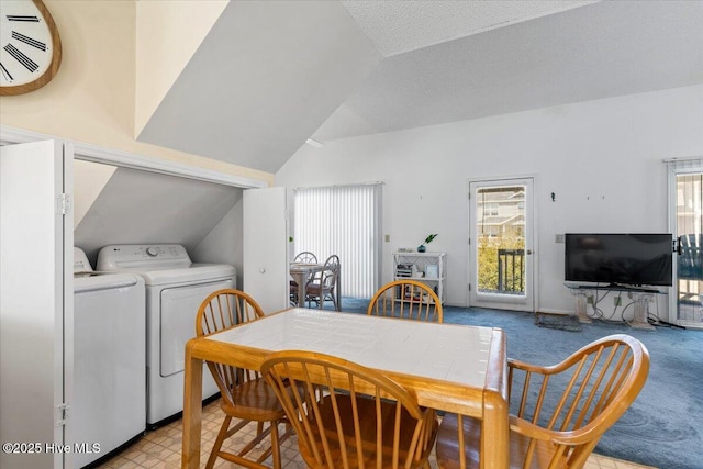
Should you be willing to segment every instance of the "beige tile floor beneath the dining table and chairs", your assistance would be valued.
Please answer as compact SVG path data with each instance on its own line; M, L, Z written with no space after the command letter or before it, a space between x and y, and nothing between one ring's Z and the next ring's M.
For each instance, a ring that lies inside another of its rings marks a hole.
M215 439L220 425L222 423L222 413L220 411L219 401L212 402L203 407L202 423L202 456L201 467L208 460L210 449ZM255 427L252 426L252 432ZM242 437L238 437L243 439ZM230 438L233 446L237 447L237 437ZM181 421L172 422L156 431L147 432L144 437L125 448L123 451L114 455L104 464L99 466L104 469L176 469L180 468L180 450L181 450ZM283 458L284 469L304 469L306 466L298 455L298 445L295 437L288 438L281 445L281 454ZM437 467L434 457L431 458L431 465ZM215 468L234 468L235 465L217 459ZM640 466L620 459L606 458L604 456L592 455L584 469L652 469L650 466Z

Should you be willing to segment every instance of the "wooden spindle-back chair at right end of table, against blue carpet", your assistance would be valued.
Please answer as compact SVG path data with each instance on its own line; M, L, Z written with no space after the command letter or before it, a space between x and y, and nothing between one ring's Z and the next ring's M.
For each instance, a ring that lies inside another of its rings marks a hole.
M551 367L510 359L510 467L582 468L648 372L647 348L624 334L595 340ZM479 421L446 414L437 434L439 468L478 468L480 439Z

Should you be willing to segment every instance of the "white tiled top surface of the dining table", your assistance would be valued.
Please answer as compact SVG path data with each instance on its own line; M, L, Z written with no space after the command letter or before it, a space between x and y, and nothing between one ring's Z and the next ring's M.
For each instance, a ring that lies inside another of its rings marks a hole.
M492 332L491 327L297 308L208 339L270 351L317 351L369 368L482 388Z

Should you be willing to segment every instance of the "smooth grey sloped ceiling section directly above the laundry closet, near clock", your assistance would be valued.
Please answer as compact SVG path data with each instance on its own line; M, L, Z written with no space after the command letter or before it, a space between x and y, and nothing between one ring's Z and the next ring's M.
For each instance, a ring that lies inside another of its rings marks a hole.
M138 139L275 172L380 59L336 1L232 1Z

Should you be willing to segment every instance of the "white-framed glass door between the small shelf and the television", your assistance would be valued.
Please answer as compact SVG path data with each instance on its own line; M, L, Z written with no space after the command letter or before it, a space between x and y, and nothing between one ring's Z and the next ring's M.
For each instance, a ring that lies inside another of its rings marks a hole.
M533 179L469 182L469 305L534 311Z

